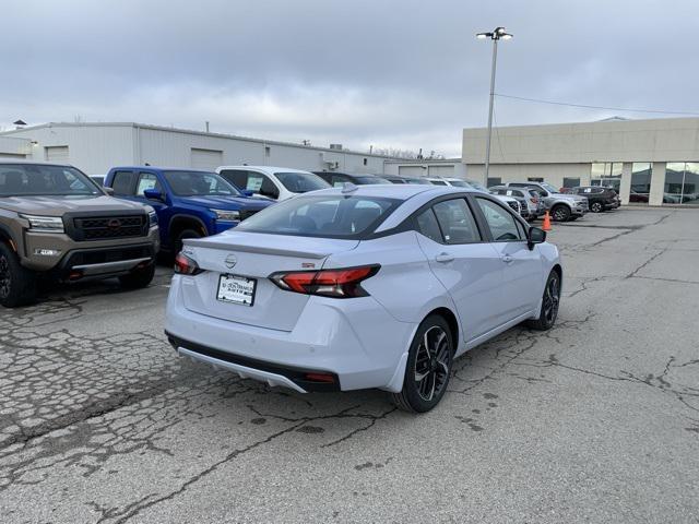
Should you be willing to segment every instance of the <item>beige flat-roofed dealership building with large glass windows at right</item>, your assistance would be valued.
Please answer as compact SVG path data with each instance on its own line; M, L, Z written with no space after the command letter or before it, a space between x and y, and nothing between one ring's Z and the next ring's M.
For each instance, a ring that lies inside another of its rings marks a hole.
M463 131L469 178L486 181L486 135ZM494 129L487 184L526 180L612 186L624 203L699 205L699 118Z

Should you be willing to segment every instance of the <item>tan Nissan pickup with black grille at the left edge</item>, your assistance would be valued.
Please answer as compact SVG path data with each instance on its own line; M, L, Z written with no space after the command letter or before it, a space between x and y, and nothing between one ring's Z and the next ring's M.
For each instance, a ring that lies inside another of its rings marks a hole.
M73 166L0 159L0 305L33 302L38 276L145 287L157 250L151 206L109 196Z

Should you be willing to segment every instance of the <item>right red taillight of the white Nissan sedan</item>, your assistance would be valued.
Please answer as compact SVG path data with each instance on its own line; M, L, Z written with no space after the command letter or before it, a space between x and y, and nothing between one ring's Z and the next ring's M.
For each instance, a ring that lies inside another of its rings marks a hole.
M379 267L379 265L364 265L342 270L292 271L274 273L270 275L270 279L286 291L304 295L333 298L367 297L369 294L360 283L376 275Z

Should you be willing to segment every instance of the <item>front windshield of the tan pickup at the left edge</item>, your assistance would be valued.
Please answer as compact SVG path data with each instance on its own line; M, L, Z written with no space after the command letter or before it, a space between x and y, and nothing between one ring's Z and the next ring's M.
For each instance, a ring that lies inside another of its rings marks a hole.
M0 164L0 196L98 194L96 183L74 167Z

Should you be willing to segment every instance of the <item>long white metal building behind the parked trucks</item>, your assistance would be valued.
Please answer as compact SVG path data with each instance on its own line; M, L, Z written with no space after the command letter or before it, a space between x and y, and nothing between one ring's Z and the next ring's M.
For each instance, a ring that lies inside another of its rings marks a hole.
M394 159L341 146L315 147L133 122L45 123L0 134L0 156L64 162L90 175L146 163L200 169L249 164L381 174L383 163Z

